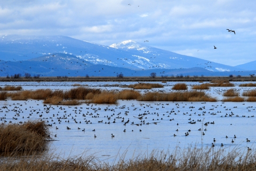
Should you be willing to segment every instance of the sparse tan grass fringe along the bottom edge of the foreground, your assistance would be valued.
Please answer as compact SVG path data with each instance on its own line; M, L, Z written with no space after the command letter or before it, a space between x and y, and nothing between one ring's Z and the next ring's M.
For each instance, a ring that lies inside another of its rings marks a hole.
M122 156L116 164L101 162L97 157L73 157L62 159L55 156L33 156L8 159L0 163L0 169L5 170L105 170L105 171L251 171L256 168L255 150L234 149L227 151L222 148L177 148L173 152L151 152L125 160Z

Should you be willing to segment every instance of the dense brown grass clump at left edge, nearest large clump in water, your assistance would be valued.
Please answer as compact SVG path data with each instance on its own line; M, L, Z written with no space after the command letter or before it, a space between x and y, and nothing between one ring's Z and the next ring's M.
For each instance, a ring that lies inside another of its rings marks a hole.
M0 151L45 150L51 139L44 122L0 125Z

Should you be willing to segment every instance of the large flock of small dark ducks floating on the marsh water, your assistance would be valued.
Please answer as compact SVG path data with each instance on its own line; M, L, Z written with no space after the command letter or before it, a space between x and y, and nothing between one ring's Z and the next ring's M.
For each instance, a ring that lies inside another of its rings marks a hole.
M237 89L239 91L241 89ZM155 90L141 90L143 92L155 91L164 92L170 91L170 89L155 89ZM206 92L209 90L205 90ZM225 92L225 89L213 89L216 94L221 95ZM213 93L214 93L213 92ZM78 132L92 132L94 138L97 136L97 128L100 125L123 125L124 129L119 130L121 132L142 132L148 131L150 128L146 125L161 125L164 124L165 129L170 132L169 136L186 138L187 136L193 135L206 136L207 132L214 131L214 126L218 125L218 122L214 122L214 118L220 121L220 118L230 118L226 121L230 125L234 125L233 117L241 117L244 119L251 119L254 117L255 107L247 106L247 113L243 113L243 116L239 116L237 113L237 106L228 108L225 102L221 102L221 105L214 103L210 106L211 102L206 106L206 102L196 104L195 102L137 102L125 104L120 102L117 105L97 105L97 104L82 104L79 106L60 106L60 105L45 105L42 104L42 100L26 100L21 102L9 101L5 102L0 109L1 122L4 123L24 123L29 119L41 119L51 127L51 130L55 130L55 138L58 138L58 132L60 129L65 134L68 134L69 130L77 130ZM245 105L245 104L243 104ZM210 121L205 121L209 120ZM90 125L90 126L88 126ZM131 129L131 125L134 126ZM175 126L176 125L176 126ZM190 125L190 126L189 126ZM93 129L90 129L91 127ZM90 128L88 128L90 127ZM155 130L152 126L151 130ZM188 130L185 128L189 127ZM197 127L197 129L196 129ZM106 127L107 129L107 127ZM66 130L66 131L65 131ZM166 130L166 131L167 131ZM174 132L171 134L171 132ZM198 134L199 132L199 134ZM230 130L230 134L236 134ZM49 135L52 136L52 135ZM122 136L118 134L118 136ZM161 135L160 135L161 136ZM230 138L230 143L235 143L237 138L241 138L234 135L222 135L219 133L219 137L213 138L213 142L208 142L214 146L225 146L225 143L220 143L220 139ZM109 132L109 138L115 138L115 135ZM186 140L186 139L184 139ZM65 141L65 140L61 140ZM173 140L175 141L175 140ZM181 139L179 139L181 141ZM222 141L222 140L221 140ZM251 142L248 137L244 137L246 143ZM216 142L219 142L216 144ZM254 142L254 140L252 141ZM249 146L249 144L247 144Z

